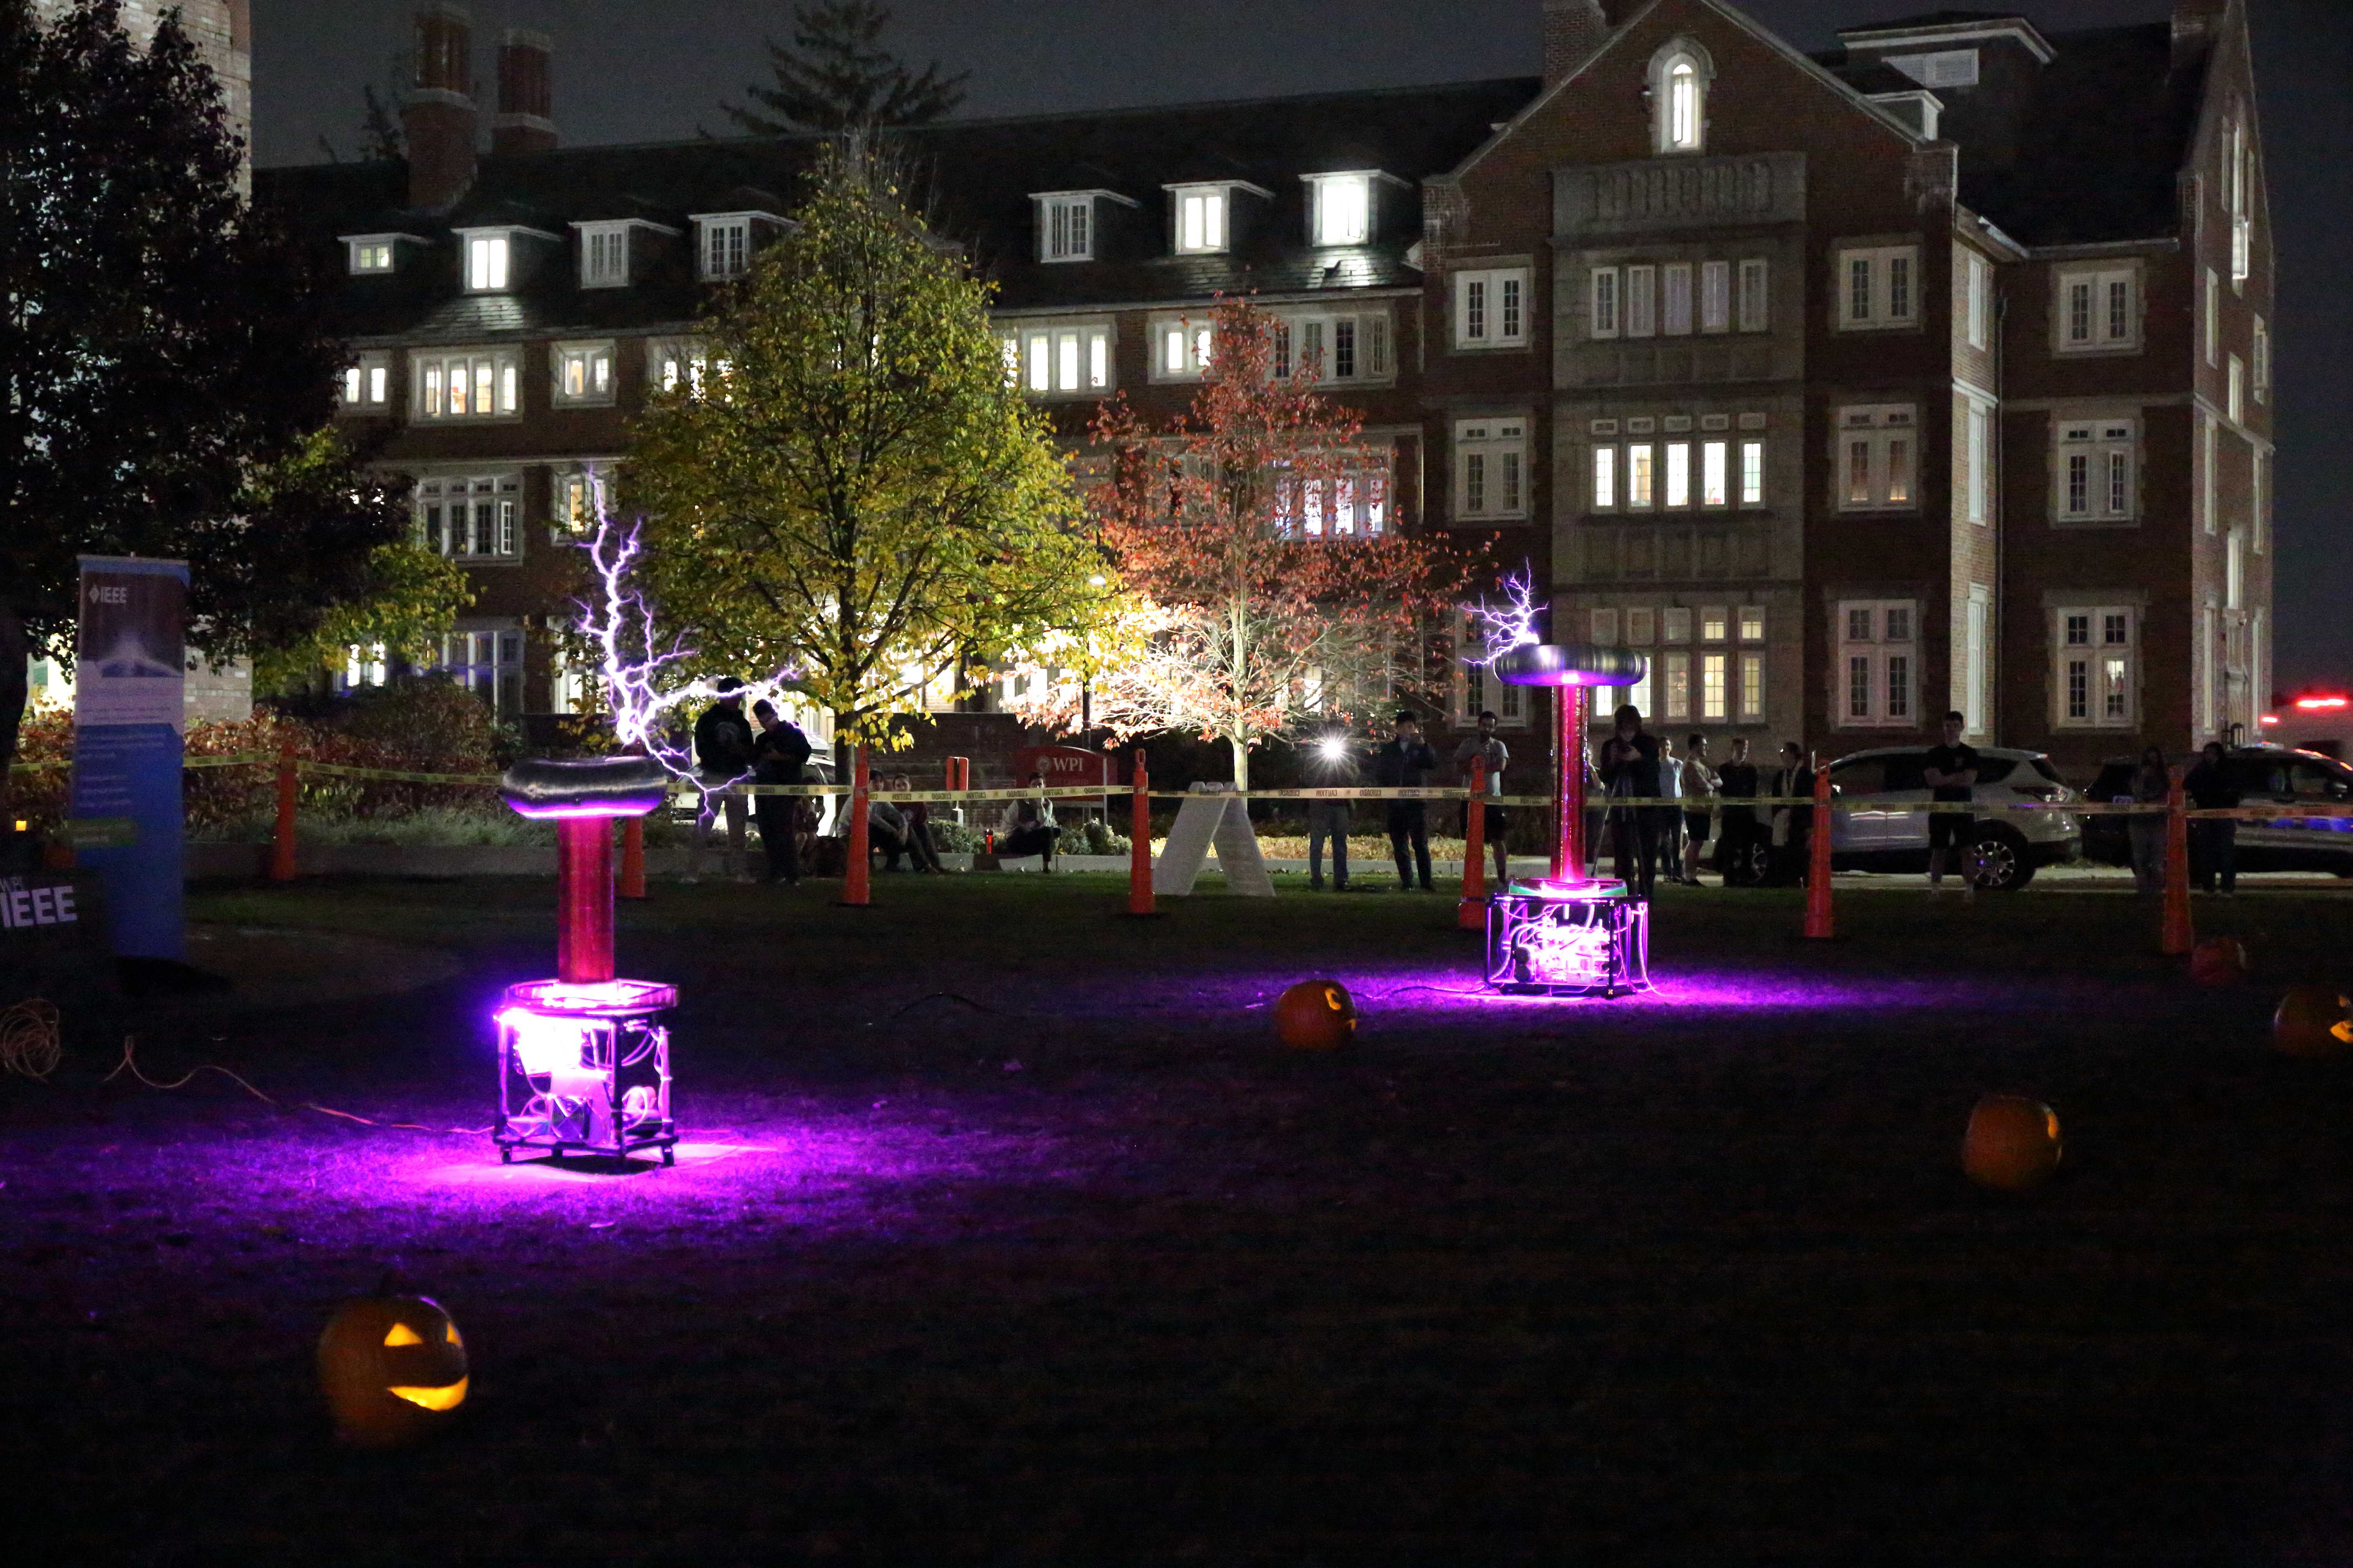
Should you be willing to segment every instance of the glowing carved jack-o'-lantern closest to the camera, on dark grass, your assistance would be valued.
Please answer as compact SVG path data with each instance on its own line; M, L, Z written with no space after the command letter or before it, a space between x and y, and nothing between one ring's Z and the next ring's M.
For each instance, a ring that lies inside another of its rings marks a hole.
M466 1403L466 1342L421 1295L351 1300L318 1338L318 1380L346 1443L398 1448Z

